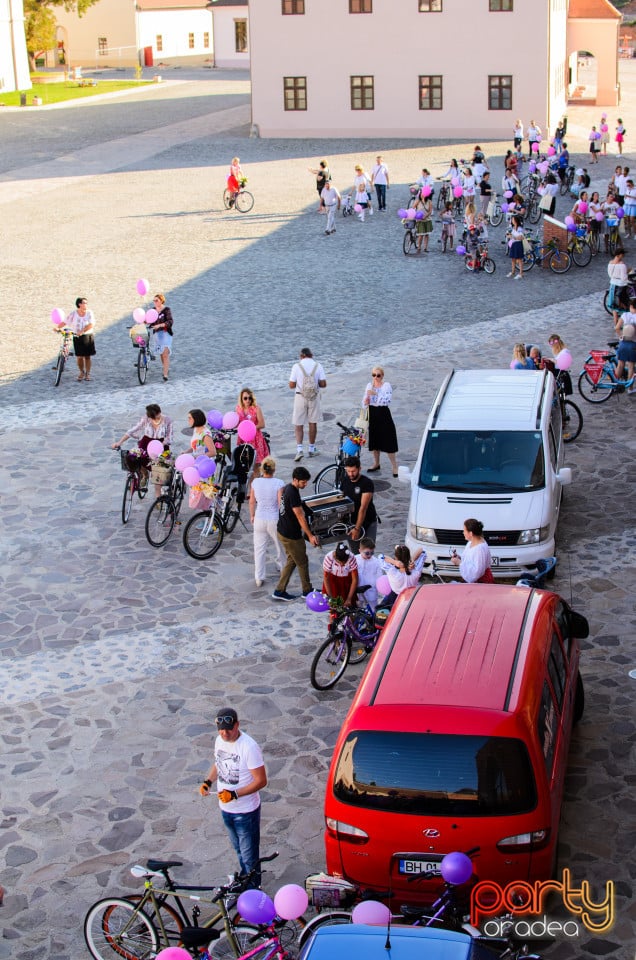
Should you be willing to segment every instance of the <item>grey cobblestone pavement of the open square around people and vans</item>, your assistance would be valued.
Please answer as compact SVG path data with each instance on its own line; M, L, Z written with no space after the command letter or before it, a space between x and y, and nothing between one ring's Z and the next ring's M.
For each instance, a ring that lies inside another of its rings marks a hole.
M35 135L35 115L0 113L0 142L16 145L13 164L4 149L0 156L0 293L17 328L0 385L2 960L86 956L87 907L138 889L128 867L147 856L183 859L190 880L214 882L231 869L218 813L196 789L222 702L237 706L267 760L262 849L281 851L268 887L323 866L325 773L361 668L334 692L311 690L323 620L300 603L281 610L269 600L273 569L255 587L241 525L207 563L188 558L178 536L150 548L145 504L121 525L123 475L109 445L144 404L160 402L185 427L190 407L228 409L249 383L287 478L286 384L309 343L328 377L316 467L329 461L335 420L355 410L377 362L394 385L400 457L410 464L453 364L507 366L514 342L545 346L556 329L578 371L611 333L600 307L604 263L564 278L535 269L511 287L498 235L494 277L468 275L437 250L402 255L395 208L422 164L441 169L448 147L383 145L395 172L392 211L364 224L339 218L336 235L324 237L306 167L325 154L344 184L375 145L252 141L244 81L210 81L218 93L203 108L205 89L166 85L119 108L57 111L43 120L29 165L18 145ZM243 218L219 203L235 152L256 195ZM176 319L170 381L153 369L144 389L125 330L139 276L168 293ZM55 390L48 314L79 293L100 321L95 377L77 383L69 368ZM588 879L596 896L615 881L617 919L601 936L545 951L558 960L633 954L634 402L623 395L597 409L580 399L583 433L567 449L574 483L554 587L588 617L591 636L560 866ZM403 534L408 487L383 466L376 489L386 546ZM312 553L316 584L321 557Z

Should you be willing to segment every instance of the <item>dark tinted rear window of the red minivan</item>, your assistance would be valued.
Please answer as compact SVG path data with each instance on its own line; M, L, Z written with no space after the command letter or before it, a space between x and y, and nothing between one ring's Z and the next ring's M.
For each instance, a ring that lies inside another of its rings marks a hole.
M354 731L333 789L353 806L434 816L527 813L537 803L526 746L510 737Z

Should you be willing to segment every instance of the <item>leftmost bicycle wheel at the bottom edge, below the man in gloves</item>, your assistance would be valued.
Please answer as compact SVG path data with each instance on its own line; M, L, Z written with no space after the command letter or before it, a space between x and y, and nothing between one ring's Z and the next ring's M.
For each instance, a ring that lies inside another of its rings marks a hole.
M94 903L84 920L84 939L95 960L149 960L159 950L159 934L143 910L129 900L108 897Z

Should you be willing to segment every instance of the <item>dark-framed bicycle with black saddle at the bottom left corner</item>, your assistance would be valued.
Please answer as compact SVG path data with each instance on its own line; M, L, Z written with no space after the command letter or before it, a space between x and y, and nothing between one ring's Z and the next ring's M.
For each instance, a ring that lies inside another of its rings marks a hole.
M258 927L237 922L230 916L238 894L252 883L260 866L274 860L278 853L263 857L249 874L234 874L229 883L219 887L189 886L175 882L171 867L182 866L178 860L147 860L146 866L136 864L131 873L143 879L145 892L127 897L106 897L88 910L84 919L84 939L95 960L149 960L163 947L183 943L202 960L201 947L214 942L215 960L230 960L249 949L255 939L265 939ZM214 896L206 899L202 893ZM184 901L194 901L192 916ZM216 912L199 925L200 903L216 906ZM286 926L286 925L285 925ZM297 928L290 927L285 939L297 936ZM108 948L108 949L106 949Z

